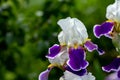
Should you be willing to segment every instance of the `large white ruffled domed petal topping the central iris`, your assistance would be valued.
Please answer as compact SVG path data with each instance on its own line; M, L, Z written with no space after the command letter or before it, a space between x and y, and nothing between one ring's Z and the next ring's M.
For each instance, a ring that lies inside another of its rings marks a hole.
M85 25L77 18L66 18L58 21L63 30L67 45L82 44L87 38Z

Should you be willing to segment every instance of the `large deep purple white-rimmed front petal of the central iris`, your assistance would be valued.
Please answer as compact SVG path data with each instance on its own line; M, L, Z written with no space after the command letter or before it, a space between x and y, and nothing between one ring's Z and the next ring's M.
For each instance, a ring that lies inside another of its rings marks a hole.
M82 47L77 49L70 48L69 60L67 61L68 66L74 70L79 71L85 69L88 66L88 62L85 60L86 53Z

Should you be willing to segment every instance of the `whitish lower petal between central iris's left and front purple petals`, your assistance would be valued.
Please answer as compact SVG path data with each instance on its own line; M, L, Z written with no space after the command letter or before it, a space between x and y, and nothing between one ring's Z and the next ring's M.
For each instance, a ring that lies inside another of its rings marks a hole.
M51 64L56 64L57 66L62 66L68 60L68 53L67 53L67 48L62 47L60 53L54 58L54 59L49 59L49 62Z

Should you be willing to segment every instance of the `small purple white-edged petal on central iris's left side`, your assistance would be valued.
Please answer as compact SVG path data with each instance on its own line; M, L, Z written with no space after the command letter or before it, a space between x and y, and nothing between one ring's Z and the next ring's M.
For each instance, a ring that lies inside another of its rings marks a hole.
M49 54L46 56L47 58L54 59L57 54L60 52L61 46L60 45L53 45L49 48Z

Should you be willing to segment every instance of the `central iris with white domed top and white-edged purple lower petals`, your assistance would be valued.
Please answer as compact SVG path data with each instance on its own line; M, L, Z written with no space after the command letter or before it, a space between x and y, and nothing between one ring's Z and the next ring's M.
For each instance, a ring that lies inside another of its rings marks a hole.
M61 19L58 21L58 25L62 29L58 35L60 45L55 44L49 48L49 54L46 57L51 64L39 75L39 80L48 80L49 72L53 67L60 67L78 77L87 75L86 68L89 63L86 60L86 49L90 52L97 50L99 55L104 54L103 50L88 39L84 24L77 18Z

